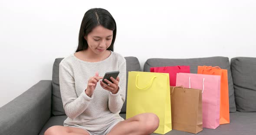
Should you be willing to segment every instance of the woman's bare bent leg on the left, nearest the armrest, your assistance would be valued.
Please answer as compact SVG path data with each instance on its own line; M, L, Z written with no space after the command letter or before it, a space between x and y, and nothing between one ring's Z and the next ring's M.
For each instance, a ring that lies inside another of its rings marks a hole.
M84 129L54 125L46 130L44 135L90 135Z

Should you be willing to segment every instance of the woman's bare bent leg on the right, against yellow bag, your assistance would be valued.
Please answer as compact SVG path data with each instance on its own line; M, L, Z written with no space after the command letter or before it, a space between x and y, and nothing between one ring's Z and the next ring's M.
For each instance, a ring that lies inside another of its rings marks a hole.
M159 118L153 113L143 113L119 122L108 135L149 135L158 129Z

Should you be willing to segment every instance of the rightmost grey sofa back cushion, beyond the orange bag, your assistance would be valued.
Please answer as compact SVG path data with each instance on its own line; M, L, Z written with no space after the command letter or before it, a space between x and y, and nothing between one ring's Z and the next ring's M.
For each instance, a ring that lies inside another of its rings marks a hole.
M256 112L256 58L231 59L236 109L240 112Z

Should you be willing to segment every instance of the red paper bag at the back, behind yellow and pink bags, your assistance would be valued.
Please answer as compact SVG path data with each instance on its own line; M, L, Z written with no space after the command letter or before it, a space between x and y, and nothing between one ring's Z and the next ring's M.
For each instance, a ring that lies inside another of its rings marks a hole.
M177 73L190 73L190 66L150 67L150 72L169 73L170 86L176 86Z

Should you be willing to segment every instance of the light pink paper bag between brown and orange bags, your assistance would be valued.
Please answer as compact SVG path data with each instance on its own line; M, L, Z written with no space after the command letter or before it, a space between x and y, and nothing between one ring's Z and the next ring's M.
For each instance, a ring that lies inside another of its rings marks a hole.
M220 76L177 73L176 86L202 90L203 128L220 125Z

